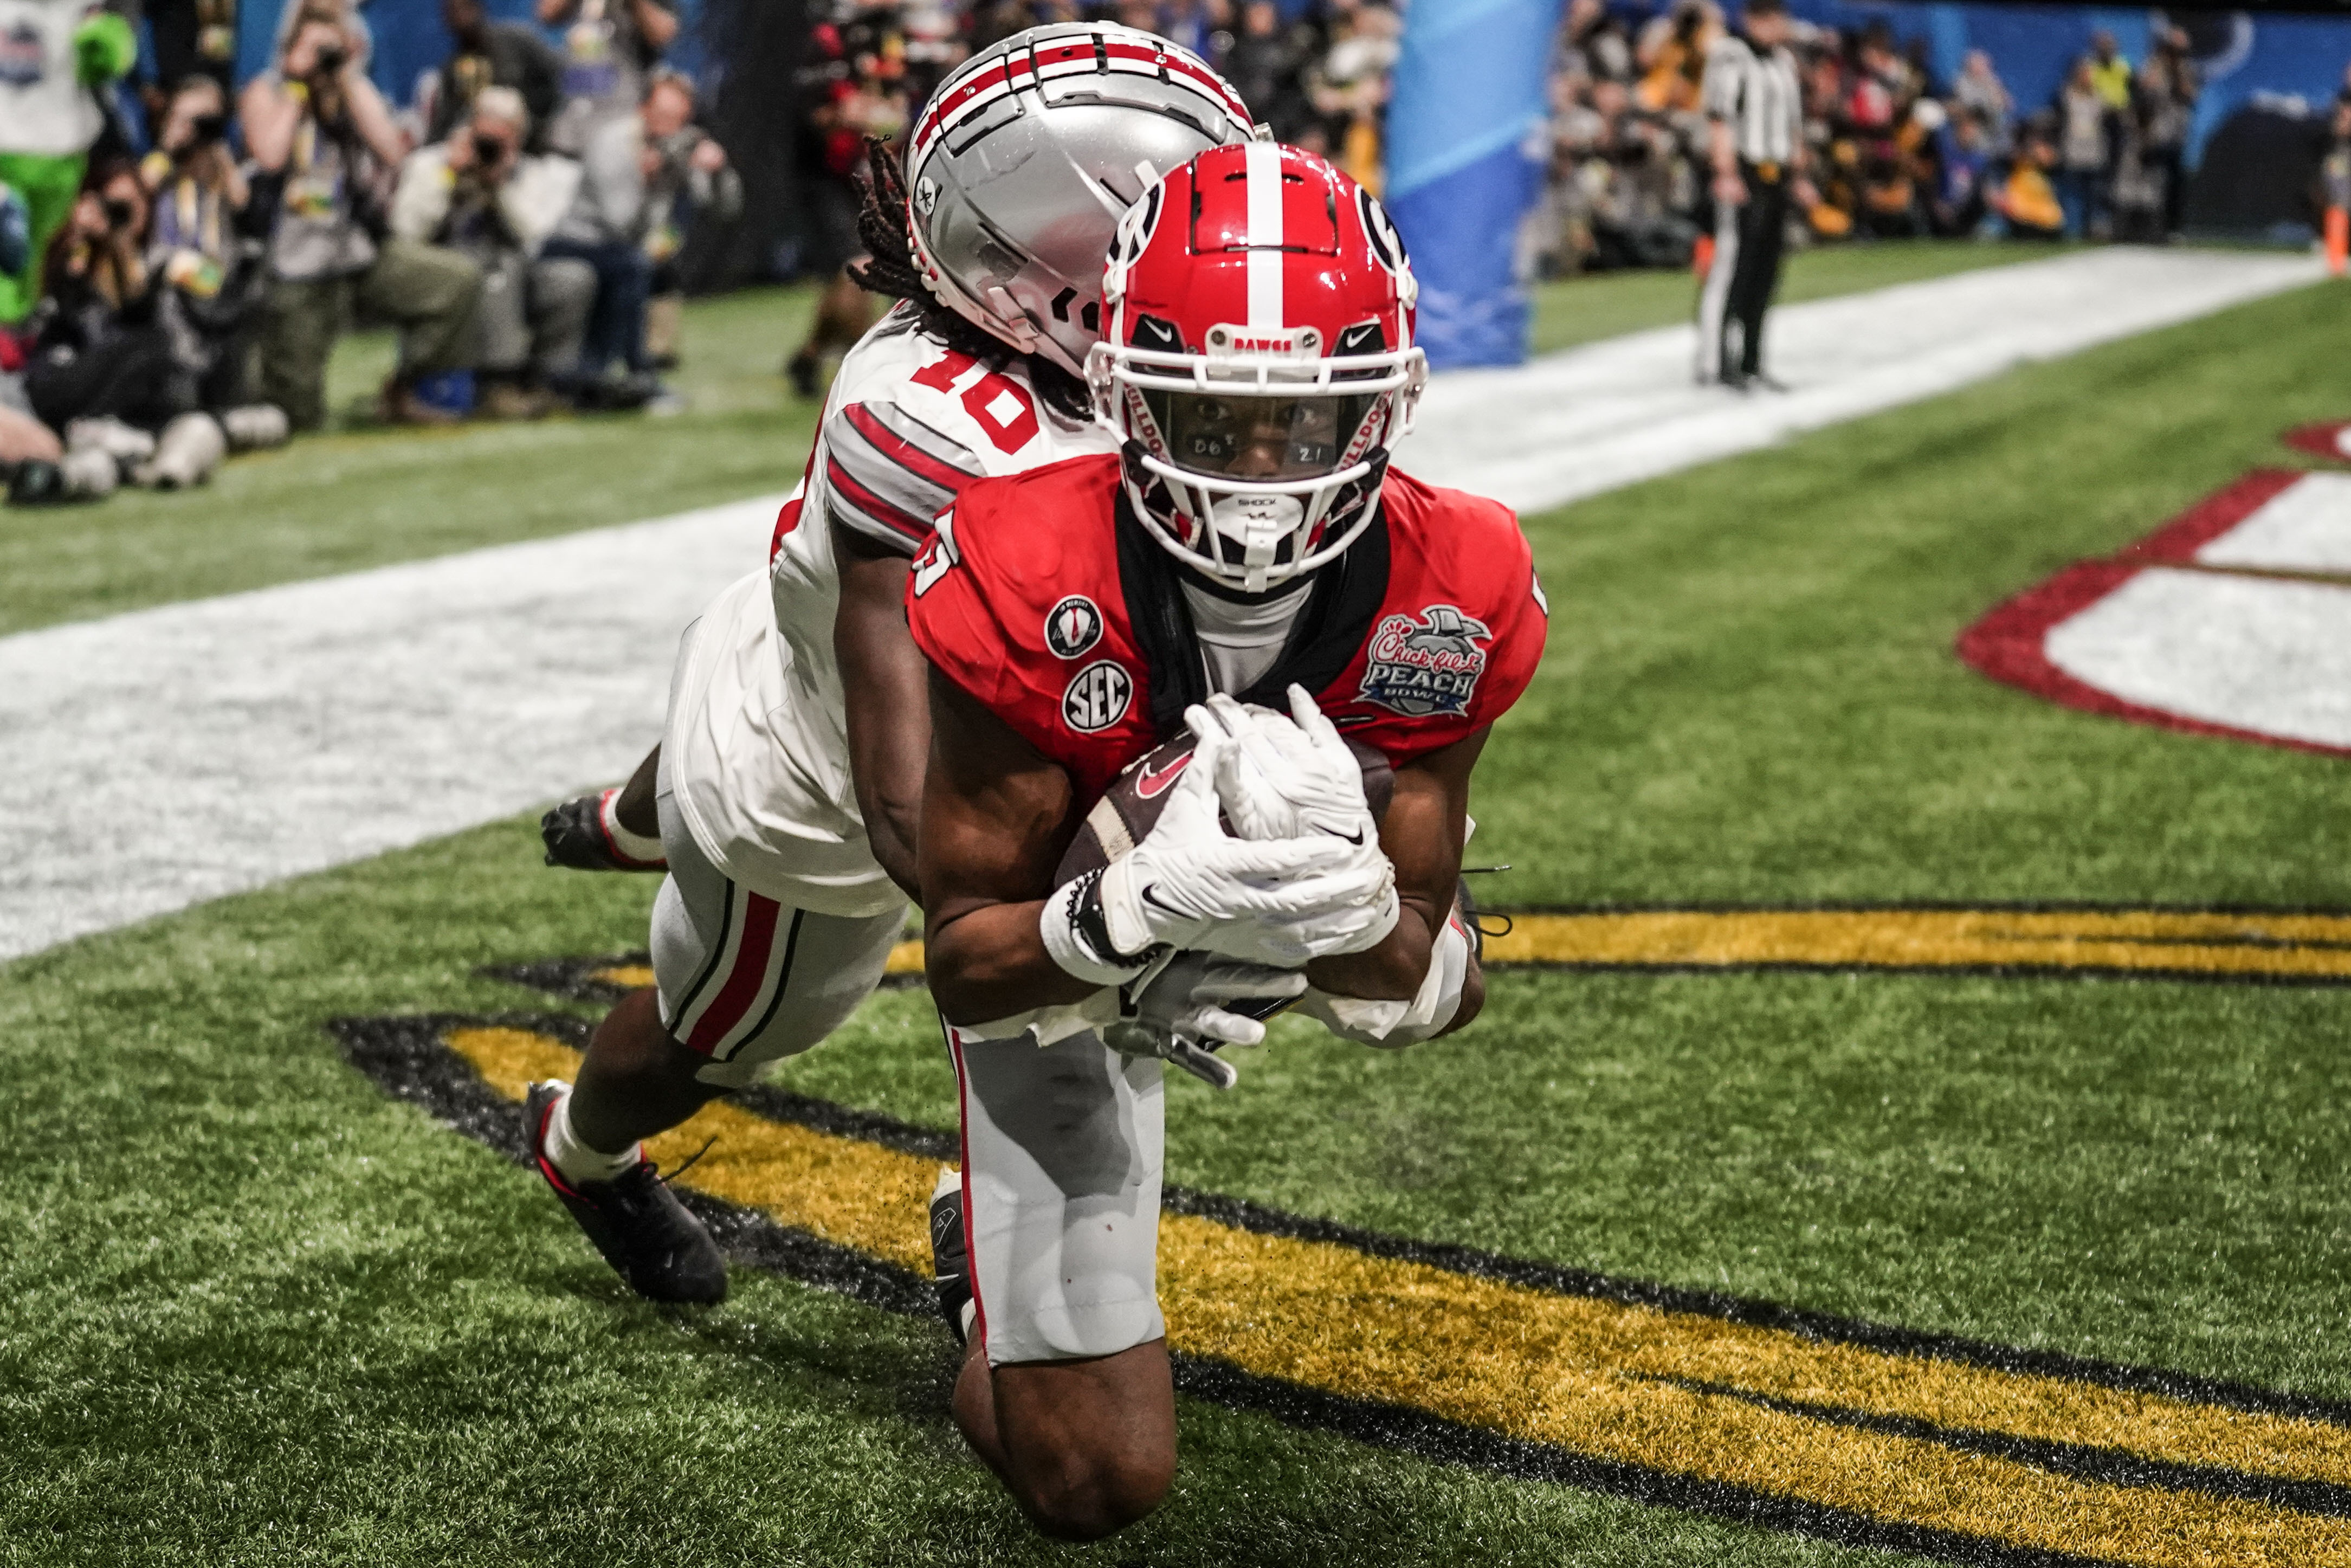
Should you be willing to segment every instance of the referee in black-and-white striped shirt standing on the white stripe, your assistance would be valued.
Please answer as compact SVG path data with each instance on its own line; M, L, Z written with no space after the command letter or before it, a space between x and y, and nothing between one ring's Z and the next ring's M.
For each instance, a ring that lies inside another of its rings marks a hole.
M1784 0L1747 0L1740 28L1707 54L1714 162L1714 263L1697 303L1697 378L1744 393L1784 390L1763 374L1763 310L1780 287L1787 205L1813 205L1803 179L1803 87L1787 47Z

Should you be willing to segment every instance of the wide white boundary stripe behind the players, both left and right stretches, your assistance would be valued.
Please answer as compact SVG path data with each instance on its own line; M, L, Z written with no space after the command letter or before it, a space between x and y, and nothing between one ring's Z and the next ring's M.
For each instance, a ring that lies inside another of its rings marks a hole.
M1796 393L1693 388L1643 331L1429 390L1413 473L1521 510L1747 451L2316 277L2095 252L1773 317ZM776 498L0 639L0 959L623 776L677 632Z

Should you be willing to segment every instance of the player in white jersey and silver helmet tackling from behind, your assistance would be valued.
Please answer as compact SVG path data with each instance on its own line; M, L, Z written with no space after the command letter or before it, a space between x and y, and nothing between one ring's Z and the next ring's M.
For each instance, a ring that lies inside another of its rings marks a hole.
M588 844L590 863L668 870L656 987L604 1018L576 1086L534 1084L524 1105L538 1171L639 1295L726 1293L642 1140L830 1034L903 929L931 743L910 559L964 484L1117 449L1081 371L1117 221L1159 174L1248 136L1239 94L1178 45L1056 24L940 82L903 186L875 158L860 282L900 303L842 362L769 567L684 635L635 783L658 842L642 818L630 832L621 792L545 823L550 860Z

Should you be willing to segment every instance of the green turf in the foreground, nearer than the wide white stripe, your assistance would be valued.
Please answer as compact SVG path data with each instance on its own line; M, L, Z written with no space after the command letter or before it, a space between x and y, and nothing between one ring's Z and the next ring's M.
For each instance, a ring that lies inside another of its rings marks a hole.
M1479 773L1500 903L2351 907L2342 762L1994 686L1991 602L2342 416L2337 289L1531 522L1545 672ZM0 595L14 585L0 588ZM738 1274L623 1300L524 1173L322 1020L545 1011L480 964L642 945L529 820L0 969L0 1561L1895 1561L1185 1401L1157 1519L1037 1542L940 1331ZM1284 1020L1168 1091L1171 1178L1389 1232L2351 1396L2339 990L1495 976L1382 1056ZM781 1081L926 1126L919 992Z

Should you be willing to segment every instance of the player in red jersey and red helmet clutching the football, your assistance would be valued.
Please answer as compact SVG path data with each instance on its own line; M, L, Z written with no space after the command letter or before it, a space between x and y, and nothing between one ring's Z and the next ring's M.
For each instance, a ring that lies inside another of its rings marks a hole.
M1371 1044L1467 1023L1469 773L1545 637L1516 520L1387 465L1425 364L1404 247L1354 181L1272 143L1201 153L1126 214L1103 299L1089 383L1121 451L966 487L907 583L976 1298L955 1410L1070 1537L1147 1514L1176 1469L1159 1060L1089 1023L1248 1041L1225 1001L1298 994L1300 969L1307 1011ZM1159 820L1063 882L1096 799L1185 726ZM1394 766L1375 830L1342 736Z

